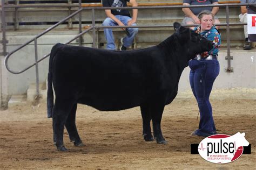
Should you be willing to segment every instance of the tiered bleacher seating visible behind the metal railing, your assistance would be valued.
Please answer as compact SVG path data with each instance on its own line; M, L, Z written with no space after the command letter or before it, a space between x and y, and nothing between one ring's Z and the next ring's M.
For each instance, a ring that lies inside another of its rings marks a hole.
M88 3L89 2L89 3ZM138 0L139 5L181 5L182 1L178 0ZM51 5L51 4L73 4L77 5L78 1L70 0L59 0L59 1L8 1L8 4L38 4ZM89 5L101 6L99 0L86 0L82 1L82 6L86 7ZM238 1L223 1L220 3L238 3ZM9 8L6 11L6 24L8 31L18 30L43 30L50 27L52 24L57 23L60 19L70 15L78 9L77 6L72 8ZM218 18L221 23L226 23L226 11L225 8L220 8L218 12ZM229 16L230 23L239 23L238 15L240 13L239 7L230 8ZM95 10L96 25L101 25L105 19L104 10ZM137 19L137 24L140 26L147 25L171 25L173 22L181 22L184 18L184 13L181 9L140 9ZM82 26L92 24L92 13L90 10L84 10L82 12ZM63 23L57 27L59 31L72 31L78 28L78 15L70 19L68 22ZM242 46L244 42L243 27L232 26L230 28L231 36L231 47ZM114 30L115 36L118 39L124 36L124 33L120 29ZM220 32L223 39L223 46L226 46L226 26L220 27ZM172 33L171 28L143 28L140 29L139 35L136 37L136 47L142 48L150 45L157 44ZM90 33L89 33L90 34ZM150 36L149 36L150 35ZM104 47L105 38L103 29L98 30L98 47ZM91 44L91 38L86 39L84 37L85 44ZM118 41L117 41L118 44Z

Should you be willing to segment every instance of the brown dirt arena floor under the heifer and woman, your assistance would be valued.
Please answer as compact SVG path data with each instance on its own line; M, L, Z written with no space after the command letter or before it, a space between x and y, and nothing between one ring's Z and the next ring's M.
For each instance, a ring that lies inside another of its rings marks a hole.
M77 127L84 144L73 146L65 130L69 152L58 152L52 142L52 119L46 104L15 105L1 111L0 169L255 169L256 100L211 100L218 133L245 132L252 154L230 164L213 164L190 154L197 129L194 99L176 99L165 107L162 130L166 145L145 142L139 108L102 112L78 105Z

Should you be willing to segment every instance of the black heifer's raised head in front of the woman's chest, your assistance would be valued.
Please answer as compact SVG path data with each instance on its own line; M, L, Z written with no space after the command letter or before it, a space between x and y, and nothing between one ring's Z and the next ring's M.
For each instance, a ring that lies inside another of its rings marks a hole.
M188 60L193 59L196 54L210 51L213 48L212 41L207 40L193 30L181 26L177 22L175 22L173 26L174 30L176 30L174 34L177 36Z

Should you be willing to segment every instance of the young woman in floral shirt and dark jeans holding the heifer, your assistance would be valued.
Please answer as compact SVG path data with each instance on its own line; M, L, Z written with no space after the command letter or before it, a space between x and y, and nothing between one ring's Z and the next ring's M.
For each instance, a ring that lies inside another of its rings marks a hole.
M213 82L219 75L218 52L220 47L220 34L215 29L214 16L210 11L202 11L199 13L200 25L194 30L213 42L213 48L189 62L190 86L194 96L197 99L200 122L199 128L192 132L192 136L211 136L216 134L216 128L212 116L212 106L209 96L212 90Z

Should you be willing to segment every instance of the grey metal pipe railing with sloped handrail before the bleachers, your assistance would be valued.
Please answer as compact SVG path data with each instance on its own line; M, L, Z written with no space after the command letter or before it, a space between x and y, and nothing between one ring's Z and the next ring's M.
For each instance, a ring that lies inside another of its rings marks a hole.
M244 5L253 5L253 4L244 4ZM186 8L196 8L196 7L202 7L202 6L219 6L219 7L225 7L226 8L226 23L221 23L221 24L217 24L219 26L226 26L226 32L227 32L227 68L226 68L226 72L233 72L233 68L231 67L231 59L232 56L230 55L230 26L233 25L246 25L247 23L230 23L229 22L229 6L231 7L237 7L237 6L241 6L241 4L218 4L218 5L188 5L186 6ZM58 23L56 23L55 25L49 27L49 29L46 29L45 31L43 31L42 33L38 34L36 37L32 38L31 40L25 42L23 45L17 47L16 49L14 49L13 51L11 51L10 53L6 53L6 36L5 36L5 9L6 8L31 8L31 7L40 7L40 8L55 8L55 7L63 7L63 8L70 8L70 7L78 7L79 9L76 12L73 12L71 15L69 15L68 17L65 17L64 19L60 20ZM123 7L123 9L174 9L174 8L184 8L183 5L175 5L175 6L137 6L137 7ZM38 62L41 62L42 60L44 60L45 58L47 58L50 54L46 54L43 56L42 59L38 60L38 54L37 54L37 39L41 36L43 36L45 33L48 33L49 31L55 29L55 27L57 27L58 25L64 23L66 20L72 18L73 16L77 15L79 13L79 34L69 40L68 42L66 42L65 44L70 44L70 42L72 42L73 40L79 38L79 46L82 45L82 37L83 34L89 32L90 30L93 31L93 42L92 42L92 47L96 47L96 30L99 29L105 29L105 28L124 28L124 27L137 27L137 28L149 28L149 27L154 27L154 28L160 28L160 27L173 27L172 25L147 25L147 26L96 26L95 25L95 10L96 9L101 9L101 10L105 10L105 9L120 9L118 7L114 8L109 8L109 7L96 7L96 6L91 6L91 7L87 7L87 8L82 8L81 6L81 0L79 0L79 5L75 5L75 4L69 4L69 5L6 5L4 6L4 1L2 0L2 32L3 32L3 40L2 40L2 44L3 44L3 54L6 55L5 56L5 67L6 69L8 69L8 71L10 73L13 74L20 74L25 72L25 70L28 70L29 68L36 66L36 95L39 96L39 73L38 73ZM83 10L91 10L92 11L92 26L89 27L89 29L86 29L84 31L82 31L82 16L81 13ZM193 25L185 25L185 26L197 26L197 24L193 24ZM15 52L17 52L19 49L22 49L23 47L25 47L26 45L30 44L31 42L34 42L35 44L35 63L33 63L32 65L26 67L23 70L19 70L19 71L13 71L9 68L8 66L8 59L10 58L10 56L12 54L14 54Z

